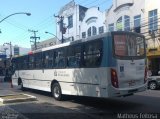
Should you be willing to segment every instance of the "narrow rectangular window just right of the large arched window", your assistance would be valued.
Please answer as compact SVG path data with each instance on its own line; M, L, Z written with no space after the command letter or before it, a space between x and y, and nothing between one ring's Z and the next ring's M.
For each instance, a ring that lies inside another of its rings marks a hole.
M134 31L141 32L141 15L134 16Z

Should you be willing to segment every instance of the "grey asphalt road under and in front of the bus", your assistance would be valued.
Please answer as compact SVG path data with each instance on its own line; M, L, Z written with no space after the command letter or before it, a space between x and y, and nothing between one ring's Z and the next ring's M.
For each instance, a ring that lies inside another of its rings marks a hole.
M27 89L22 92L15 87L10 88L10 90L37 97L37 101L10 103L0 106L0 111L7 108L12 110L14 114L16 112L21 115L20 117L26 119L52 119L53 117L58 119L150 119L160 117L160 90L147 90L134 96L109 99L67 96L64 101L56 101L50 93L42 91ZM15 119L17 118L16 116Z

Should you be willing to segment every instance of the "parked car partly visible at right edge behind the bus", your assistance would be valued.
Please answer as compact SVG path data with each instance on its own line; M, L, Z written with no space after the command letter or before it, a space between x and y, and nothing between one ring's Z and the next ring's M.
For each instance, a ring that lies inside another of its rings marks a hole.
M148 77L148 88L155 90L160 87L160 76L149 76Z

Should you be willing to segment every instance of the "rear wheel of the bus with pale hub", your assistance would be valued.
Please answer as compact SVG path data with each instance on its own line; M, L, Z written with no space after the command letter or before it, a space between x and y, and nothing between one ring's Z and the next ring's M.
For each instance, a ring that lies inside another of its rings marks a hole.
M52 95L56 100L62 100L62 91L58 82L52 84Z

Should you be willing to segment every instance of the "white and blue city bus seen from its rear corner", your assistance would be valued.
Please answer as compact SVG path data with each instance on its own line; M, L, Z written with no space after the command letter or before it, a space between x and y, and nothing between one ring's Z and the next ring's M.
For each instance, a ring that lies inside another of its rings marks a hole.
M63 95L128 96L146 90L144 36L117 31L13 58L13 85Z

